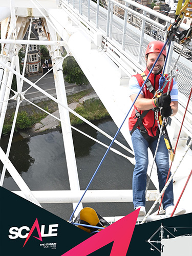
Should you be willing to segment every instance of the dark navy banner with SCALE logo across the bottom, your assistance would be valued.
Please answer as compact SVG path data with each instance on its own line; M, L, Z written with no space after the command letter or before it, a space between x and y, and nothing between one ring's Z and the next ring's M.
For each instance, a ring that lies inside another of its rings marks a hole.
M91 236L2 187L0 207L1 256L192 255L192 214L135 225L134 211Z

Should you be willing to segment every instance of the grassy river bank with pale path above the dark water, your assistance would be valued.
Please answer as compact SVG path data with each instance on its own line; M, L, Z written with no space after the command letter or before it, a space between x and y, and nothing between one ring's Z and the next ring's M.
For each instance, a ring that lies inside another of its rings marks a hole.
M84 118L87 118L89 121L100 120L102 118L109 117L109 113L104 108L101 101L98 99L97 94L94 90L87 90L86 92L77 93L67 97L68 106L70 109L74 110L78 114L82 115ZM60 126L60 121L55 119L59 118L58 105L54 101L44 101L41 102L40 108L51 113L51 115L46 114L45 112L35 108L33 105L22 106L19 109L19 114L25 113L23 120L20 122L28 122L29 125L25 126L25 129L18 129L18 124L16 125L16 130L24 137L33 136L36 133L45 132L50 129L55 129ZM9 110L6 116L6 126L4 128L4 135L9 133L11 128L12 119L14 115L14 110ZM19 117L17 117L19 119ZM30 119L30 120L28 120ZM70 113L70 119L72 125L79 125L83 122Z

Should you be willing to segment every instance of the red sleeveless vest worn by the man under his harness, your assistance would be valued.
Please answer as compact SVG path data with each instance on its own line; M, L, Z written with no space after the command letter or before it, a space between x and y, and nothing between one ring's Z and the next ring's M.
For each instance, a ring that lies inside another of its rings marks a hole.
M149 71L148 69L146 68L146 70L144 71L144 73L146 75L148 75ZM136 78L137 78L137 81L139 82L139 85L140 87L142 86L143 84L143 78L140 74L137 74L137 75L134 75ZM148 77L150 79L150 82L152 84L152 86L155 88L155 91L158 90L159 88L159 79L160 79L161 75L160 74L153 74L151 73L150 76ZM167 75L165 75L165 77L167 77ZM169 82L167 82L164 90L163 90L163 93L166 93L167 90L168 90L168 84ZM173 79L172 79L172 82L170 84L170 89L169 91L172 90L172 87L173 87ZM142 89L142 92L143 92L143 97L144 98L147 98L147 99L152 99L153 98L153 93L150 93L149 90L146 90L147 86L146 84L144 85L143 89ZM131 117L129 118L129 129L130 131L132 131L133 127L134 127L134 124L136 123L137 121L137 118L135 118L135 109L137 110L136 106L134 105L134 110L132 112L132 115ZM137 110L138 111L138 110ZM143 113L143 111L139 111L141 114ZM150 110L142 119L142 122L143 122L143 125L145 126L145 129L147 130L148 132L148 135L149 136L156 136L156 133L157 133L157 128L158 128L158 124L157 124L157 121L155 119L155 112L153 110ZM140 127L138 126L138 128L140 129Z

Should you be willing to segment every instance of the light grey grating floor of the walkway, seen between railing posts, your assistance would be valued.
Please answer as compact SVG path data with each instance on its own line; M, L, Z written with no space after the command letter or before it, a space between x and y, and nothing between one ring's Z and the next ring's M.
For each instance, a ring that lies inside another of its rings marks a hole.
M69 3L73 5L73 0L70 0ZM88 7L86 6L86 1L82 3L82 15L84 17L88 17ZM79 2L75 1L74 3L75 9L79 10ZM92 24L96 26L96 13L97 13L97 5L91 1L90 7L90 21ZM106 19L107 19L107 10L99 7L99 16L98 16L98 27L101 31L106 32ZM115 40L120 47L122 47L122 37L123 37L123 20L117 16L114 16L113 23L111 24L111 36L112 40ZM129 24L129 26L132 26ZM153 26L153 25L152 25ZM125 51L126 53L130 54L130 56L135 57L135 61L138 62L138 52L139 52L139 44L140 44L140 36L137 33L138 28L132 26L132 29L126 29L126 36L125 36ZM103 36L105 34L103 33ZM148 41L143 39L143 56L141 57L142 66L145 67L145 59L144 59L144 51L146 46L148 45ZM174 66L176 59L178 58L178 53L174 52L172 57L171 66ZM172 68L170 67L170 68ZM189 92L191 90L192 81L191 81L191 74L192 74L192 62L185 59L184 57L180 57L178 63L178 89L179 92L185 95L188 98ZM192 99L190 99L192 101Z

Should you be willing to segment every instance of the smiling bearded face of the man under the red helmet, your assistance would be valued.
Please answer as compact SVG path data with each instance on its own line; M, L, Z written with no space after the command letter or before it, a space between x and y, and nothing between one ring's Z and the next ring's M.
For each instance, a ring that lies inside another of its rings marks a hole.
M157 57L158 57L159 53L158 52L152 52L148 54L148 58L146 60L146 66L148 70L151 70L151 68L153 67ZM161 54L161 56L159 57L152 73L153 74L159 74L160 71L163 69L163 65L164 65L164 55Z

